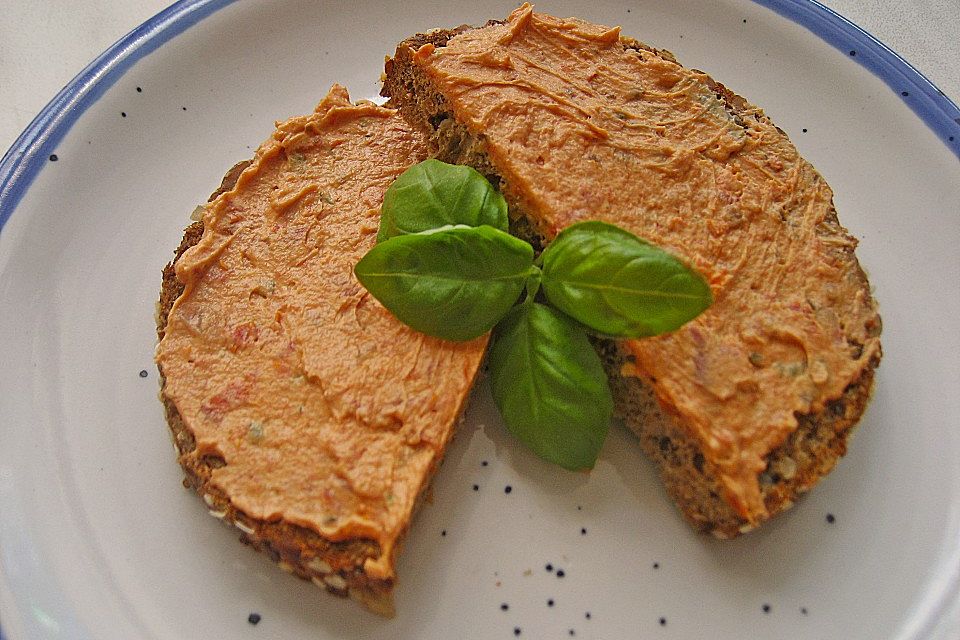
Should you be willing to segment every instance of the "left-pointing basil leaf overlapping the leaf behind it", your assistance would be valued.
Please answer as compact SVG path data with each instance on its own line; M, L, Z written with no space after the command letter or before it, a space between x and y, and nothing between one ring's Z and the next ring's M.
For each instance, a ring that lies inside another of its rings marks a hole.
M533 269L526 242L488 226L454 226L381 242L353 271L404 324L462 341L497 324Z

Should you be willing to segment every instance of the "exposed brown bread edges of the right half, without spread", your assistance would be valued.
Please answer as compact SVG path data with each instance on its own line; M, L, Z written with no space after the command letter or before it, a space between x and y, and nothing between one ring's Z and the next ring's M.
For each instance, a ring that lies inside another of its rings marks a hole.
M489 24L497 24L494 22ZM413 53L423 45L443 47L448 40L468 27L450 31L418 34L402 42L394 58L386 63L382 95L414 126L431 136L432 152L441 160L473 166L494 184L499 184L510 206L512 232L542 247L545 238L534 221L525 213L525 205L516 192L500 176L498 168L486 153L482 134L474 135L453 116L444 96L413 62ZM624 49L645 51L670 62L676 62L667 51L654 49L636 40L620 38ZM745 99L722 84L707 77L705 82L720 98L733 119L766 116ZM784 135L782 130L777 129ZM836 212L831 209L827 226L840 228ZM863 291L869 292L866 276L860 270L853 248L843 248L841 259L852 262L855 277ZM873 327L878 335L879 323ZM625 347L614 341L597 340L616 400L618 416L638 435L643 450L659 467L667 491L679 506L686 520L697 530L717 538L732 538L755 528L757 523L741 517L722 497L714 470L705 463L698 441L671 412L665 411L649 384L639 377L623 375L633 364ZM855 358L859 358L855 354ZM879 351L864 367L862 374L845 389L842 397L829 402L825 409L797 414L798 427L780 446L765 458L766 471L759 477L762 500L767 517L790 508L800 494L809 490L833 469L846 453L850 437L870 396L874 370L879 364ZM625 366L626 365L626 366Z

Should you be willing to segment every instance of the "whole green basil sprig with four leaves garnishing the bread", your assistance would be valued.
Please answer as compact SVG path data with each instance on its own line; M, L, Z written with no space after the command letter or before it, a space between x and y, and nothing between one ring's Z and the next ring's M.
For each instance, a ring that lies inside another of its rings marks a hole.
M427 160L387 190L378 244L354 273L418 331L469 340L496 327L491 388L507 429L549 462L589 469L613 398L584 327L628 338L673 331L710 305L710 287L611 224L571 225L536 261L506 230L506 203L482 175ZM541 289L556 308L537 301Z

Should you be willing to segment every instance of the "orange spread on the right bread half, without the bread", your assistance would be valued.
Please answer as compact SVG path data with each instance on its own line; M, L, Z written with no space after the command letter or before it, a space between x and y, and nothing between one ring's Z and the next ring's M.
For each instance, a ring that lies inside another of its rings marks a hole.
M617 28L524 5L414 60L547 237L605 220L706 275L713 307L629 341L625 373L699 439L740 515L764 519L764 457L880 350L830 188L759 110L731 115L703 73Z

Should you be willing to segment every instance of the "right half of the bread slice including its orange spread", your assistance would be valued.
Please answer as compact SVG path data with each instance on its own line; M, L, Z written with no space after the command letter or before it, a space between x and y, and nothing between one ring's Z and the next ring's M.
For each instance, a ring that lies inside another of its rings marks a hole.
M597 340L618 414L697 529L730 538L828 473L866 406L880 318L832 193L757 107L617 28L529 5L402 42L382 94L441 160L499 182L539 245L600 219L705 274L715 303Z

